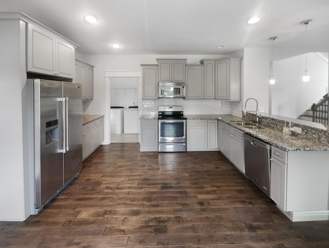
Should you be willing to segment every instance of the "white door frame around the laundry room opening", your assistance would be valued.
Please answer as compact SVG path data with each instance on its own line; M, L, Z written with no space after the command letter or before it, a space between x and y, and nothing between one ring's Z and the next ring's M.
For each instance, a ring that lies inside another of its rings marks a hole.
M139 108L139 116L142 113L142 72L141 71L105 71L105 117L104 117L104 141L103 145L111 144L111 106L110 106L110 81L111 78L138 78L138 108ZM139 121L138 121L139 127ZM139 129L139 128L138 128ZM139 132L138 132L139 136Z

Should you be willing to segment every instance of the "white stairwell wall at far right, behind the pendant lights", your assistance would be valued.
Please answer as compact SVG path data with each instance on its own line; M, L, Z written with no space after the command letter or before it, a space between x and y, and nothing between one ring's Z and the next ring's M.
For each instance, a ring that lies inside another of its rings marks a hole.
M297 118L326 93L328 64L316 53L307 54L309 82L303 82L305 54L273 63L272 114Z

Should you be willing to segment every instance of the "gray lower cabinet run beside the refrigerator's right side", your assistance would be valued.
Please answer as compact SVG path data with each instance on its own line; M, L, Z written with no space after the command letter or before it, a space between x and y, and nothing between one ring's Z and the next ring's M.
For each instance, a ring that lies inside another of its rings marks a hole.
M103 142L104 118L82 126L82 160L88 158Z

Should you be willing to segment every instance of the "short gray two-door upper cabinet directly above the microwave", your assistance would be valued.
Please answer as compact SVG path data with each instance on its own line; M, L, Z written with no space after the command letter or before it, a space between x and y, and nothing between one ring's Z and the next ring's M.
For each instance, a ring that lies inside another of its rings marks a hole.
M158 82L185 82L186 60L157 59Z

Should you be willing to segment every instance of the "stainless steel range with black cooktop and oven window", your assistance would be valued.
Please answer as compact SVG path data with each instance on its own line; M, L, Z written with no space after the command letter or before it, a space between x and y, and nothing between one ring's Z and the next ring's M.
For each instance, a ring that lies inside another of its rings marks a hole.
M183 106L159 106L158 122L158 151L186 151L186 118Z

